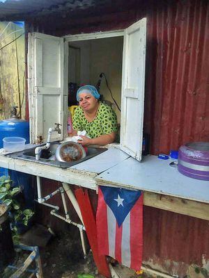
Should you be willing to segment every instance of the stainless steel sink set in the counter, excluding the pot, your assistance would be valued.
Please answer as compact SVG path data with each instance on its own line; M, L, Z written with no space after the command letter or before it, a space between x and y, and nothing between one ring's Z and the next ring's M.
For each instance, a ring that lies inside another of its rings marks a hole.
M36 160L36 156L35 156L35 149L37 146L32 147L31 149L25 149L22 152L15 152L13 154L8 154L7 156L17 158L17 159L22 159L24 161L34 161L36 163L42 163L42 164L46 164L46 165L67 168L67 167L76 165L78 163L81 163L83 161L86 161L87 159L92 158L93 156L97 156L98 154L101 154L102 152L107 151L106 148L88 147L86 157L80 159L79 161L60 162L60 161L57 161L55 158L56 148L60 144L61 144L60 142L52 142L50 144L49 149L42 149L39 160ZM42 145L45 145L45 144L42 144Z

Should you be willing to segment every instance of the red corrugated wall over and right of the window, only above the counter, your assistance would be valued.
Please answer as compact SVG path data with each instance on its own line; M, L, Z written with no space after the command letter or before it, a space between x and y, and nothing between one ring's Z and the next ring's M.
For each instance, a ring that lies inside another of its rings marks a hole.
M34 19L53 35L127 28L147 17L144 131L151 154L209 140L209 1L114 1L111 8ZM46 24L47 22L47 24Z

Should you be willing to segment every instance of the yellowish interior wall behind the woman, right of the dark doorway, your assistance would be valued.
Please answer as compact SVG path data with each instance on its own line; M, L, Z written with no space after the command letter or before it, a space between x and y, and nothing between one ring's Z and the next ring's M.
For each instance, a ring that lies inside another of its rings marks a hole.
M109 88L119 107L121 107L121 81L123 61L123 37L105 38L91 41L91 83L98 82L101 72L107 77ZM121 113L111 99L104 77L100 86L100 94L113 104L118 122Z

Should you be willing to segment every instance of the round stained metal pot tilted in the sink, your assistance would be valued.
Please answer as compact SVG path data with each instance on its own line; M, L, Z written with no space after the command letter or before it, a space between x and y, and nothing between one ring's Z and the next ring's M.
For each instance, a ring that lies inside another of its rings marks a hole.
M56 160L61 162L79 161L86 157L84 147L76 142L63 142L56 149Z

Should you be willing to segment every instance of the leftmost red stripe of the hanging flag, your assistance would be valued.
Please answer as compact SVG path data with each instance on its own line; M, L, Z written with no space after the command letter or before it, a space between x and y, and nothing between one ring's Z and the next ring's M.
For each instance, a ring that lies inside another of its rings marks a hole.
M108 228L107 228L107 205L104 202L102 190L99 188L98 210L96 215L98 252L99 254L109 254Z

